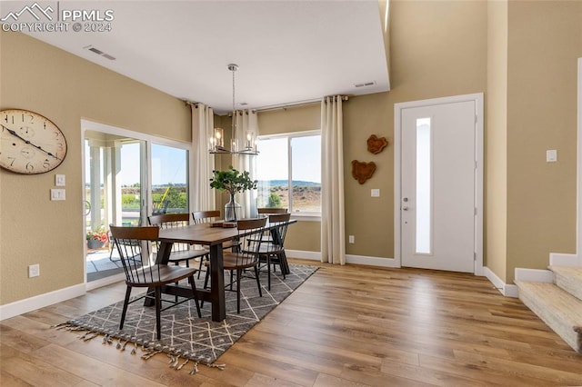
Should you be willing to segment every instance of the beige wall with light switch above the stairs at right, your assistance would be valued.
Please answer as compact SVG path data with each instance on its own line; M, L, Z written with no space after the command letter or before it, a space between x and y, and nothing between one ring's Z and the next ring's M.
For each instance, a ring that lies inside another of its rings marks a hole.
M507 283L576 253L577 58L582 2L510 1L507 10ZM557 149L557 163L546 150Z

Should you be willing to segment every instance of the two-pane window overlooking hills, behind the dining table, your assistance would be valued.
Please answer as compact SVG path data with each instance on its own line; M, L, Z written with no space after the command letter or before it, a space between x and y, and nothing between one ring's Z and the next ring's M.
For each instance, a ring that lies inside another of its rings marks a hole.
M321 135L302 132L258 138L257 207L321 213Z

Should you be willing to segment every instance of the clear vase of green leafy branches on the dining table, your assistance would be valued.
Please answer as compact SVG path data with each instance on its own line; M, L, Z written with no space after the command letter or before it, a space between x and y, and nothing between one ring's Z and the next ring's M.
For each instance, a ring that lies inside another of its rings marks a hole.
M235 193L246 190L256 190L256 180L251 180L248 171L239 172L232 165L226 171L212 171L214 177L210 179L210 187L216 188L230 195L230 200L225 204L225 221L236 222L243 217L242 207L235 201Z

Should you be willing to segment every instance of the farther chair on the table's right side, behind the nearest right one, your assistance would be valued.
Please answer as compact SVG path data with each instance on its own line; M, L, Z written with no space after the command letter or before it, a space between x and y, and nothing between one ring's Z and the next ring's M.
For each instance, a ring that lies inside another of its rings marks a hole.
M271 264L273 271L275 265L279 265L279 270L283 273L283 279L286 278L286 270L282 265L286 264L285 254L285 238L287 234L287 226L291 213L276 213L269 215L269 224L273 226L268 232L270 234L269 240L263 240L259 248L260 263L265 263L263 266L259 265L259 271L262 267L267 270L267 288L271 290Z

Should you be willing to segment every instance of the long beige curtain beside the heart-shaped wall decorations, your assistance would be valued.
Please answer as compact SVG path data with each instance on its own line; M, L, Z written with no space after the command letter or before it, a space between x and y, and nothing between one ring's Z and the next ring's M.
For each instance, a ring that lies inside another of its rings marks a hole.
M342 97L321 102L321 262L346 264Z

